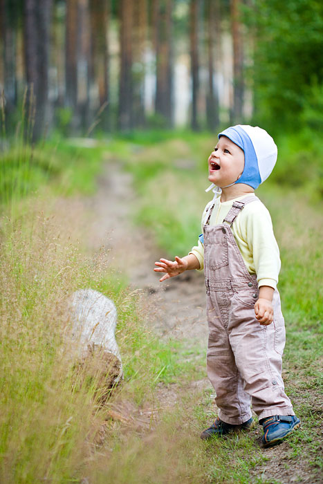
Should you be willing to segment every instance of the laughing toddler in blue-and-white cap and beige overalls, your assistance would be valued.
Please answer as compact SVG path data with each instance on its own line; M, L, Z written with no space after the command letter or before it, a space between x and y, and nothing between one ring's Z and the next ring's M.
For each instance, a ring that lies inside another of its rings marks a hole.
M160 259L160 282L204 268L207 292L207 375L219 416L201 438L264 427L264 447L280 443L299 419L284 392L284 317L277 291L279 249L270 214L255 189L277 160L273 138L259 127L219 133L208 158L214 198L203 212L199 245L175 261Z

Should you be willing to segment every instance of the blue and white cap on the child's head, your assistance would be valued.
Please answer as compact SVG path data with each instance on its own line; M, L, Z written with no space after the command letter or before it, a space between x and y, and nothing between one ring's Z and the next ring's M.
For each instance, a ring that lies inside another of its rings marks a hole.
M273 171L277 160L273 138L264 129L249 124L227 128L219 133L218 138L221 136L226 136L244 151L243 172L234 183L246 183L254 189L259 187Z

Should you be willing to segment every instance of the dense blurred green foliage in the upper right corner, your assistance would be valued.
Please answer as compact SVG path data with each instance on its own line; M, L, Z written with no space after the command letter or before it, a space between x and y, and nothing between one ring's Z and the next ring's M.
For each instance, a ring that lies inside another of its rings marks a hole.
M311 89L323 82L322 2L261 0L245 21L255 32L255 122L276 133L299 129L308 96L320 94Z

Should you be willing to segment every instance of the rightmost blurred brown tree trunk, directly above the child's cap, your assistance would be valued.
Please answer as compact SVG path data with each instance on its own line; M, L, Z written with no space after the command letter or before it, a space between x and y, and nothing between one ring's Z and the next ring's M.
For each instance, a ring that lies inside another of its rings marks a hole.
M240 0L231 0L231 30L233 44L233 106L232 124L242 121L243 112L243 39L241 35Z

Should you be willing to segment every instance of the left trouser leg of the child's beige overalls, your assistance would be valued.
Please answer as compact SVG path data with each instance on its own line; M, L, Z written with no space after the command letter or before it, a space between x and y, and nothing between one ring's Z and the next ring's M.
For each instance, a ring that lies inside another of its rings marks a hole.
M224 293L207 296L207 376L216 391L219 418L228 424L241 425L251 418L250 396L243 389L243 380L230 346L225 297L228 295Z

